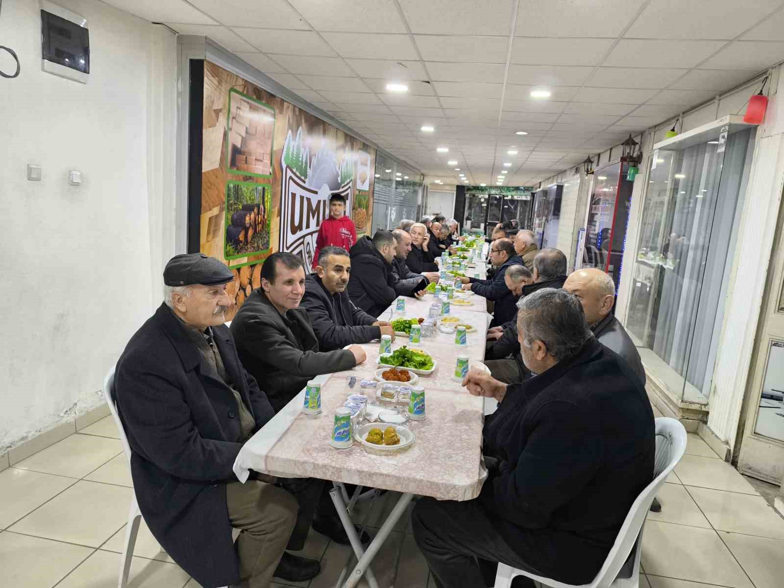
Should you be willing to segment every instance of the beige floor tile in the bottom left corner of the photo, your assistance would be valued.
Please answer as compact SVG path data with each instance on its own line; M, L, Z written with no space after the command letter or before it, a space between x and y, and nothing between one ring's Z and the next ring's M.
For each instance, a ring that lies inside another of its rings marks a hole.
M89 547L2 532L0 568L3 586L49 588L91 553L93 550Z

